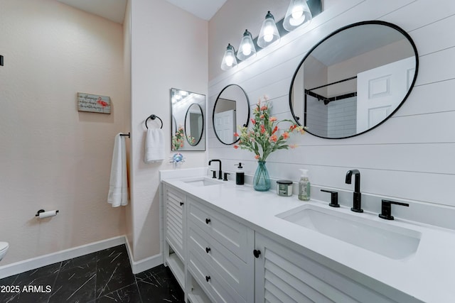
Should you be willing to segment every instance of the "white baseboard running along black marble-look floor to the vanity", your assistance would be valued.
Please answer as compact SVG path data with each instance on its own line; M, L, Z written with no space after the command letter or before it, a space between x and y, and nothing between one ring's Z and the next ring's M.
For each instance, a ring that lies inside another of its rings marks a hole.
M122 244L127 244L127 251L133 273L143 272L144 270L148 270L150 268L154 268L155 266L163 264L162 260L163 257L161 256L161 254L154 255L144 260L135 262L132 258L132 250L129 247L127 238L125 236L118 236L86 244L83 246L77 246L75 248L60 250L58 252L50 253L48 255L41 255L36 258L31 258L16 263L0 266L0 279L4 277L9 277L11 275L17 275L18 273L26 272L28 270L41 268L43 266L50 265L53 263L58 263L64 260L77 258L82 255L87 255L89 253L95 253L99 250L111 248L113 246L119 246Z

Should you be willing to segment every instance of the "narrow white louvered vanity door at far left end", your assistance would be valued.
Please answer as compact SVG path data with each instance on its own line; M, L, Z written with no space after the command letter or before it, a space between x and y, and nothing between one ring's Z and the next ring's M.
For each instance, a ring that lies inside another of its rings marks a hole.
M166 216L166 241L182 261L183 258L183 223L186 196L170 187L165 188L164 204Z

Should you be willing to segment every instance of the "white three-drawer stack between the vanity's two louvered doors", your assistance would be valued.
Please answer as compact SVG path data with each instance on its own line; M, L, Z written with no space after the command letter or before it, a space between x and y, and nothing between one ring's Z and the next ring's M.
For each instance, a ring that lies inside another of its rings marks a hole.
M213 302L254 302L253 231L196 199L187 204L188 271Z

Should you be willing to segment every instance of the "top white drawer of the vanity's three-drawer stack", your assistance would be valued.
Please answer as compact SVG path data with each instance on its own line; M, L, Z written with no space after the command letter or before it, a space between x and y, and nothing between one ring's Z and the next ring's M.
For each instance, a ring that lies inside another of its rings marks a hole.
M237 257L247 260L247 226L191 198L188 198L188 219Z

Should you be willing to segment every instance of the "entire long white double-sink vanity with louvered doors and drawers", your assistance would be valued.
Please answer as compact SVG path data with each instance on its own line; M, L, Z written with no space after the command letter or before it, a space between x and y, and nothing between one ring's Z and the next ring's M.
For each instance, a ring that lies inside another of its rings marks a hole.
M190 302L455 297L453 231L255 192L206 171L161 171L164 263Z

